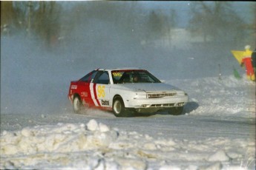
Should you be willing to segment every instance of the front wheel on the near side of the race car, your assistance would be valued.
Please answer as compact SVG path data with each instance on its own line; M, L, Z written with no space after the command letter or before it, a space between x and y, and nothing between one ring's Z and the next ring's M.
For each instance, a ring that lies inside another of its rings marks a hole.
M125 105L124 105L124 102L122 101L121 97L116 96L114 98L112 109L113 109L114 115L116 117L127 117Z

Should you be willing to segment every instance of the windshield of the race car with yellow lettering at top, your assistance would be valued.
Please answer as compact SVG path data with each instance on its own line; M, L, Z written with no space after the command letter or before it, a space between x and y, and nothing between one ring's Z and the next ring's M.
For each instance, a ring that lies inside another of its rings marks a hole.
M111 74L114 84L161 83L154 75L144 69L114 70Z

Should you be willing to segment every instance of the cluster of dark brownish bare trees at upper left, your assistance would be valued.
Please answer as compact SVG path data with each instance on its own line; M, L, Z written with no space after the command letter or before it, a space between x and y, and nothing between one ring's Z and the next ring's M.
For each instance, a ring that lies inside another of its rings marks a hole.
M37 35L50 46L58 38L60 15L56 1L1 1L1 27L7 24L17 33Z

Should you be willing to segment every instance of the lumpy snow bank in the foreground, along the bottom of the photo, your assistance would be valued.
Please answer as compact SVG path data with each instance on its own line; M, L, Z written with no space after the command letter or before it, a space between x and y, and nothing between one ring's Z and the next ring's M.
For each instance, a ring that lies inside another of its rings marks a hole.
M255 161L252 141L154 138L94 119L3 131L0 146L0 169L247 169Z

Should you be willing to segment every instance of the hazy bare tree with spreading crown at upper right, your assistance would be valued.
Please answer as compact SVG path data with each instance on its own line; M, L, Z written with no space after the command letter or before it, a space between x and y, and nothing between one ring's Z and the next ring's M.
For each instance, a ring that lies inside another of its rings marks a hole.
M203 40L234 42L244 36L244 21L234 13L229 1L194 2L191 5L191 20L188 29Z

